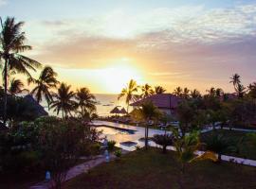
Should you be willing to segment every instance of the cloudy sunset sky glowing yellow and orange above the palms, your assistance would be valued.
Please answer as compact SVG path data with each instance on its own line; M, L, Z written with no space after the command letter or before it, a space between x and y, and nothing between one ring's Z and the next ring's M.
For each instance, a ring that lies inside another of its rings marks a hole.
M93 93L139 84L232 92L229 77L256 81L256 1L0 0L25 21L29 56Z

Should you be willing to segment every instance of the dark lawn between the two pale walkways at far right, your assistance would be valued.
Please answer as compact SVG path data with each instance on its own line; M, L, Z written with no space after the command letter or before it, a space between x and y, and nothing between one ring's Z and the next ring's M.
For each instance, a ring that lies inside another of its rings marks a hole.
M251 138L247 136L248 132L227 129L216 129L214 131L223 134L227 140L231 141L232 144L236 144L239 147L239 151L227 152L226 155L256 160L255 142L251 141ZM203 135L208 136L214 131L204 133Z

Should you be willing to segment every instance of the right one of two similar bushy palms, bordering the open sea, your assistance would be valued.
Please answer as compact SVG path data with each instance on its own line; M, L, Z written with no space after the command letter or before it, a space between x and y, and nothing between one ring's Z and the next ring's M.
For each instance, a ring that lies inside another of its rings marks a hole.
M78 106L81 108L81 115L85 112L96 111L96 97L91 94L89 89L83 87L77 90L76 99L78 100Z

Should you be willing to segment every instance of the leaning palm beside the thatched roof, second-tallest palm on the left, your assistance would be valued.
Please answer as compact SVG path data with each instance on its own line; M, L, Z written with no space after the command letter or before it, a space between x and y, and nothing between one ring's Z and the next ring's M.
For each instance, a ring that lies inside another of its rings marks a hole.
M49 66L46 66L38 79L29 77L27 79L28 84L34 83L36 87L31 91L36 98L36 101L39 103L42 101L43 96L46 98L48 107L52 102L52 94L50 93L51 88L56 88L59 81L57 80L57 73Z

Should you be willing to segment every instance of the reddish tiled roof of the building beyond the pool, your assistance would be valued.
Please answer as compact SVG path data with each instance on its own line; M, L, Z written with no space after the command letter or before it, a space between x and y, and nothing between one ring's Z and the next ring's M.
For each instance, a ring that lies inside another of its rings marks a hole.
M131 106L141 106L145 101L152 101L159 109L175 109L178 105L179 98L174 94L153 94L144 99L138 100L130 104Z

